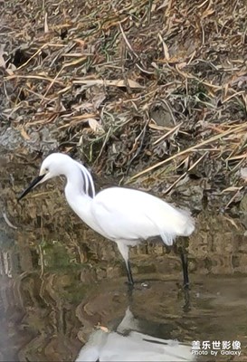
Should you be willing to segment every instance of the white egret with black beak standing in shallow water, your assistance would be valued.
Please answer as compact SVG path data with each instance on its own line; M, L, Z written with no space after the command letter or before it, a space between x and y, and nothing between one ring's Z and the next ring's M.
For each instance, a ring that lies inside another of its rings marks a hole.
M65 176L65 196L71 209L97 233L117 243L128 272L129 284L134 283L128 261L128 248L153 237L172 245L176 236L188 236L195 230L190 214L156 196L125 188L109 187L95 194L90 172L68 155L53 153L43 160L40 174L24 190L19 200L34 186L55 176ZM184 283L188 285L187 261L181 253Z

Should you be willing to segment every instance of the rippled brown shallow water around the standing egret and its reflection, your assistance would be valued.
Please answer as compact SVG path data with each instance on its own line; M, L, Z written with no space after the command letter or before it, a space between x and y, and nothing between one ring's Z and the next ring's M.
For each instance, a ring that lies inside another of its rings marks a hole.
M238 220L198 215L189 246L189 295L180 288L176 255L159 243L132 250L138 283L130 294L115 245L71 213L62 182L17 205L39 161L27 167L7 161L0 175L0 360L75 360L96 326L118 329L128 308L143 334L189 345L210 341L199 360L247 360L247 246ZM222 355L233 351L222 349L223 341L240 341L235 351L241 356Z

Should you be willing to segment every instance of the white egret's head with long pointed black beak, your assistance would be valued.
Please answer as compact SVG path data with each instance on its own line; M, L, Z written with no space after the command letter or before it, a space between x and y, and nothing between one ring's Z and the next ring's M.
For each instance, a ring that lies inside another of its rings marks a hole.
M71 157L62 153L52 153L52 155L46 157L43 160L39 176L34 178L33 182L18 197L18 201L29 194L35 186L42 184L52 177L64 175L66 167L71 161Z

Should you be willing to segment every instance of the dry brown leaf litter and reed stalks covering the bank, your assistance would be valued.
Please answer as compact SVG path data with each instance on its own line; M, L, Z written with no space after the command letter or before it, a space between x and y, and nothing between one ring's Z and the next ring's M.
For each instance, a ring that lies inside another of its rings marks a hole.
M246 13L244 0L5 1L2 130L28 140L45 125L96 173L228 190L229 207L247 155Z

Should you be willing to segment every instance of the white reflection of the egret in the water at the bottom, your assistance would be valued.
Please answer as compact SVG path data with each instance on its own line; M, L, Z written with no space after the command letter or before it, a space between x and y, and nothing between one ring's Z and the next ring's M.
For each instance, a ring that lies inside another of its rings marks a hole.
M134 329L134 330L133 330ZM149 336L139 331L138 319L126 310L115 331L96 329L81 348L75 362L195 361L189 344Z

